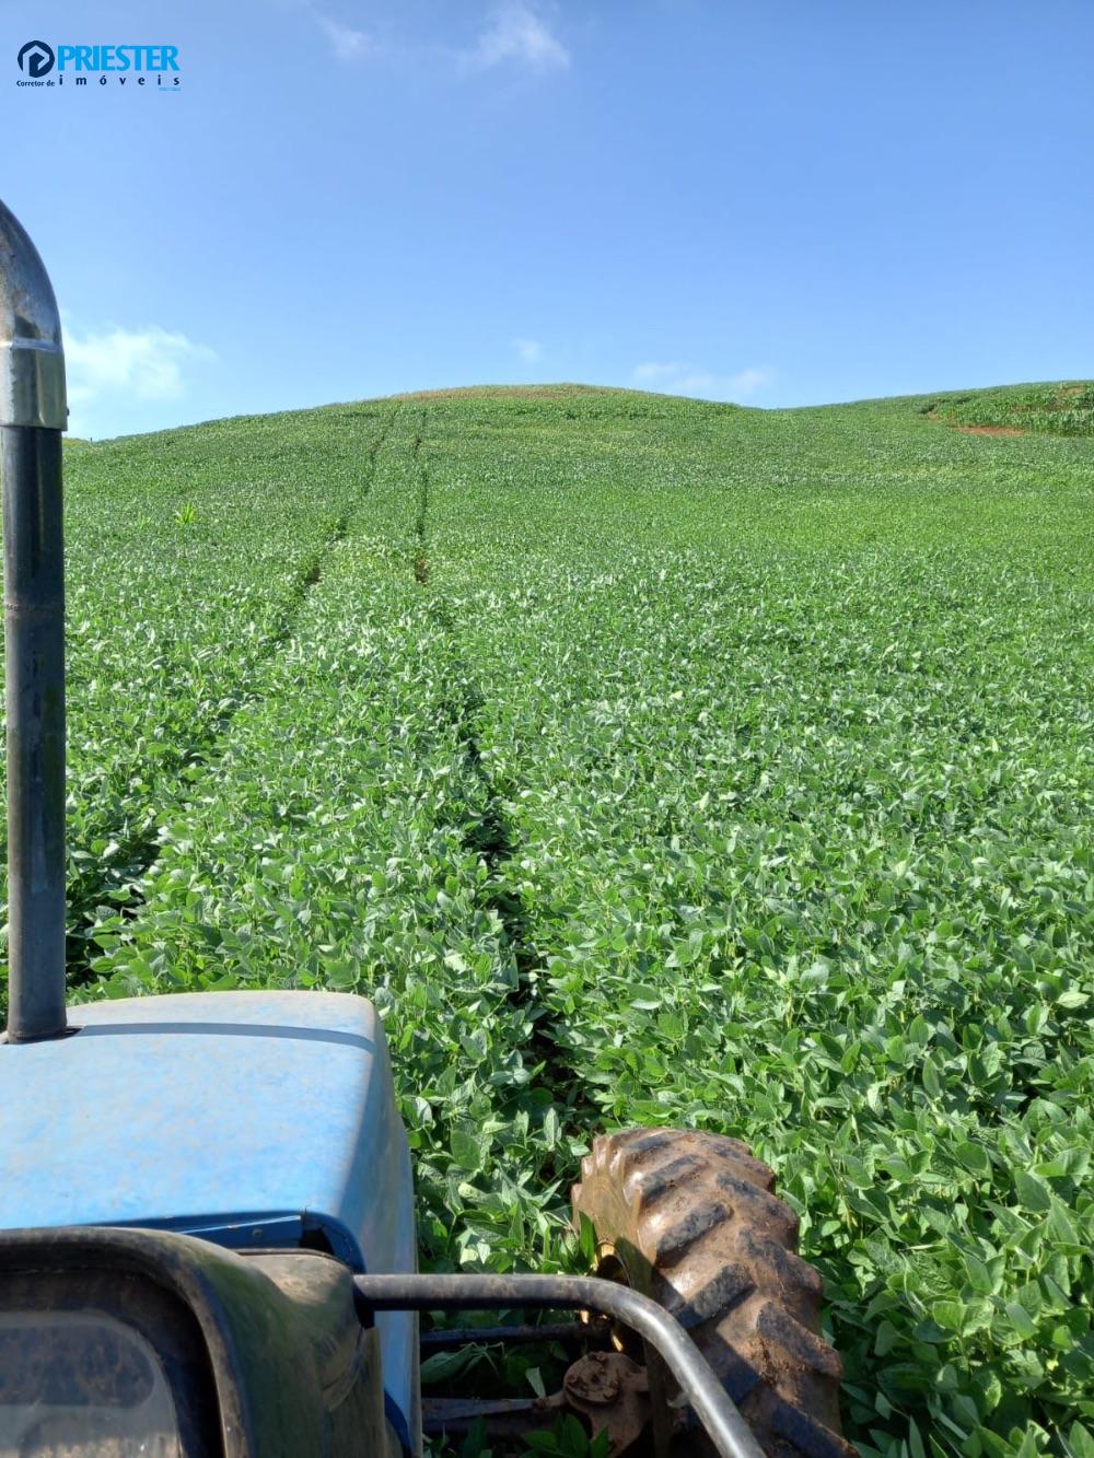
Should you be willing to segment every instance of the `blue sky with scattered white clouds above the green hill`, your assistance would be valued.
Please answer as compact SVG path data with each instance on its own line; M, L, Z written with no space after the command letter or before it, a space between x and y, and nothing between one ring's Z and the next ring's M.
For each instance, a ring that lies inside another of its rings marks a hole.
M179 85L18 86L31 39ZM1094 375L1090 0L0 0L0 139L80 436Z

